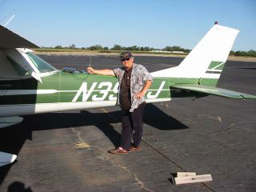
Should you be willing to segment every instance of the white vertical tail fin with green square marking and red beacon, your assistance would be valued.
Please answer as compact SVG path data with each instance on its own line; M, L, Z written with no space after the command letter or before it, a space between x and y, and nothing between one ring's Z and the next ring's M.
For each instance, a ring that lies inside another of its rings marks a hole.
M194 79L201 85L216 86L238 32L238 30L216 24L179 66L158 70L152 75Z

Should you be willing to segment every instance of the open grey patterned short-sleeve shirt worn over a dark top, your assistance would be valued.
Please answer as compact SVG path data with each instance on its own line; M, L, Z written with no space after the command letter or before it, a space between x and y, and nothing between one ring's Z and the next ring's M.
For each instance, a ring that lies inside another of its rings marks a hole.
M118 78L118 82L119 82L118 93L120 93L120 86L121 86L123 74L125 74L125 68L122 67L122 68L114 69L113 71L115 76ZM150 74L150 72L148 72L148 70L146 70L144 66L134 63L132 72L130 74L130 97L131 97L130 112L133 112L134 109L138 108L138 106L142 104L142 102L146 101L144 97L137 99L137 98L134 98L134 95L143 89L147 80L150 80L150 82L153 82L153 77ZM119 101L119 94L118 94L118 101Z

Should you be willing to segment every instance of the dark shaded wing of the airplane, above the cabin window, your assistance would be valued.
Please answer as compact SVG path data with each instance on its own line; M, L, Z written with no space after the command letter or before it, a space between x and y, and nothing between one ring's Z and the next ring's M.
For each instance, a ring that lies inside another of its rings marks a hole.
M0 25L1 48L38 48L34 43Z

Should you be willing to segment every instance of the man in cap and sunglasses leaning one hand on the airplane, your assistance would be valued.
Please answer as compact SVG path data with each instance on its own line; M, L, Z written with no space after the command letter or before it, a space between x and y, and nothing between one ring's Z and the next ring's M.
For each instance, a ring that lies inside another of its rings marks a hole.
M123 67L114 70L94 70L88 67L90 74L113 75L119 82L119 102L122 109L121 146L109 150L112 154L127 154L128 151L141 150L143 111L146 90L153 82L152 75L142 65L134 63L129 51L120 56ZM134 134L133 134L134 132ZM134 143L131 144L131 138Z

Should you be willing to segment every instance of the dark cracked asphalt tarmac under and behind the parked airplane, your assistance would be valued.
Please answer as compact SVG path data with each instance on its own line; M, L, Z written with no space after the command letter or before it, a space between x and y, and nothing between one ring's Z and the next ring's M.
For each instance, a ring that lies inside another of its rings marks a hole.
M89 56L40 55L58 69L85 70ZM183 58L136 57L152 72ZM118 57L91 58L98 69ZM218 87L256 95L256 63L230 62ZM256 101L208 96L146 105L142 150L118 146L119 107L28 115L0 130L0 150L18 161L0 168L0 191L256 191ZM77 145L80 144L80 145ZM82 145L83 144L83 145ZM211 174L212 182L174 186L178 171Z

